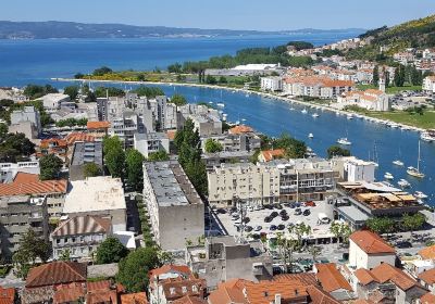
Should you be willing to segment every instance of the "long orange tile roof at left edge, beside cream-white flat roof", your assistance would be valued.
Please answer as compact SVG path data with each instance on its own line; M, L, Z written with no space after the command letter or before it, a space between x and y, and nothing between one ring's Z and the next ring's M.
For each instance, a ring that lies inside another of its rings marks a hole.
M11 182L0 185L0 197L66 193L67 180L45 180L35 182Z

